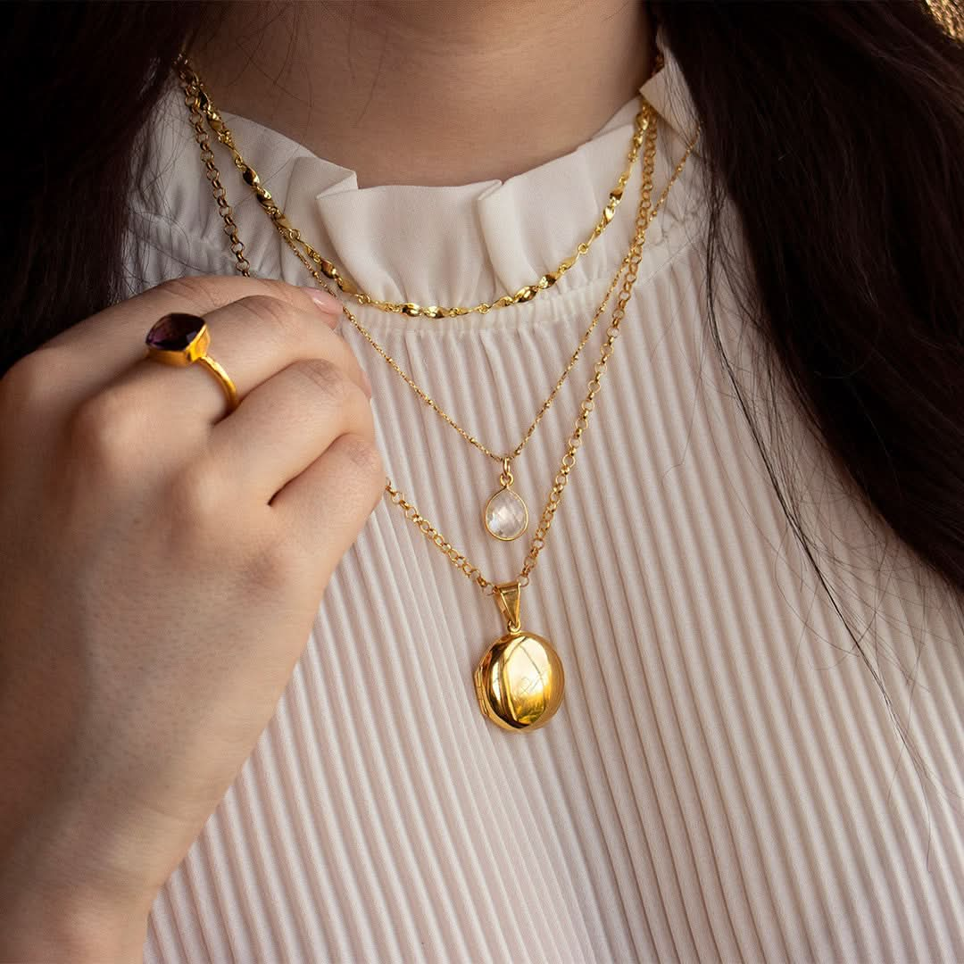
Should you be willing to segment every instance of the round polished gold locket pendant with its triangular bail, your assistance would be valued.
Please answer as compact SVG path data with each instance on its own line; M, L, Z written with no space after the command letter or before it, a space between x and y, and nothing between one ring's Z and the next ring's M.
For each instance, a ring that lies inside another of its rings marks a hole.
M535 730L559 709L565 687L562 660L548 639L522 629L520 585L495 586L495 603L506 633L495 640L475 667L479 708L496 726L518 732Z

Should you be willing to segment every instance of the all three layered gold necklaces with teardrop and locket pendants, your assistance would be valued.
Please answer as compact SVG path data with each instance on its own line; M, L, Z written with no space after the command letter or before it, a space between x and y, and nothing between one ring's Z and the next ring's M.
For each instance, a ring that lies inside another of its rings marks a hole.
M656 55L655 69L662 66L662 56ZM623 258L615 277L603 297L603 302L593 315L589 327L583 333L576 345L562 375L549 392L549 396L540 406L535 418L522 437L522 441L510 452L498 453L480 442L474 435L469 434L458 422L442 410L434 399L419 387L413 378L392 359L388 352L367 331L358 318L349 310L347 305L342 310L349 321L360 332L369 344L389 367L415 391L415 394L433 412L454 429L466 442L483 452L490 459L499 464L499 488L486 502L482 511L482 521L486 531L495 539L509 542L518 539L526 531L529 524L528 507L522 496L513 488L515 476L512 471L512 460L517 458L532 437L543 415L549 410L559 389L562 388L569 373L576 365L576 361L590 335L595 330L609 299L622 278L622 286L617 296L616 306L613 308L605 339L600 348L599 360L593 367L593 377L589 380L588 392L579 405L576 423L566 442L566 450L562 456L558 470L549 491L549 497L538 522L535 533L522 563L522 570L512 581L495 582L483 576L481 571L466 555L456 549L441 533L441 531L422 516L415 504L402 495L390 479L386 479L386 493L392 504L397 505L405 517L413 522L429 541L441 549L448 559L468 576L485 594L495 597L495 603L501 613L506 631L493 643L481 657L473 673L473 683L479 709L488 719L502 729L512 732L534 730L545 725L558 709L565 685L565 674L562 662L549 640L522 629L521 623L521 591L529 584L529 576L535 568L539 553L546 545L549 526L562 498L563 491L570 474L576 466L576 451L582 442L582 436L589 425L589 415L594 410L595 399L601 388L601 379L606 362L612 354L616 338L619 336L620 325L629 304L632 285L636 281L639 264L642 259L642 248L646 241L646 228L656 216L656 211L665 200L673 182L683 171L683 165L699 137L699 127L683 158L677 164L666 187L656 204L650 205L653 191L653 170L656 163L656 110L640 94L641 106L635 116L632 143L629 148L626 169L609 192L603 206L603 214L586 241L580 243L576 252L566 258L553 271L548 271L537 281L524 285L515 293L507 293L494 302L482 302L473 307L444 307L438 305L418 305L413 302L392 303L371 297L362 291L361 287L348 278L335 263L316 251L308 241L302 237L301 231L291 225L281 206L274 200L270 191L261 183L261 179L254 168L242 157L235 144L234 137L227 124L216 110L210 96L204 89L201 77L191 67L187 57L180 56L175 69L184 90L184 103L190 115L190 122L194 128L195 139L201 150L201 163L204 174L211 183L212 194L218 205L225 223L225 232L229 238L230 250L235 258L236 270L245 276L250 276L250 264L245 256L244 244L239 238L238 228L234 222L233 212L227 200L227 192L221 182L221 174L214 163L214 152L211 149L208 128L218 141L228 148L234 166L240 172L244 182L254 193L261 209L281 234L284 243L305 265L310 276L317 284L334 295L328 281L334 281L337 288L349 298L354 298L360 305L370 305L379 310L405 314L412 317L443 318L478 312L485 314L497 308L507 308L510 305L531 301L540 292L552 286L562 277L583 254L587 254L593 241L603 233L606 226L613 220L616 207L622 200L623 191L629 181L632 165L643 151L643 172L640 184L640 201L636 215L636 229L629 252ZM206 126L205 126L206 125Z

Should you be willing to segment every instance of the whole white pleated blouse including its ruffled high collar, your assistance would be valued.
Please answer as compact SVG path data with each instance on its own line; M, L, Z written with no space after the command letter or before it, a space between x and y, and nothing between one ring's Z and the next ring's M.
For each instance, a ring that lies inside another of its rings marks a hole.
M665 66L641 88L659 115L654 199L695 129L657 41ZM364 290L469 305L575 251L623 169L637 106L565 156L458 187L360 189L352 171L226 120L292 223ZM159 200L138 204L131 293L234 270L176 89L153 132ZM308 283L216 150L253 273ZM528 304L441 320L350 307L446 411L511 449L629 249L640 168L589 254ZM505 624L384 499L254 753L158 895L150 964L964 960L960 601L853 495L782 388L768 419L766 346L721 273L737 377L866 658L847 635L708 334L704 173L697 147L649 228L522 592L523 627L565 666L561 709L527 733L483 717L472 671ZM607 318L514 463L533 516ZM339 331L373 384L394 484L483 573L514 578L531 529L501 543L480 519L498 467L347 319Z

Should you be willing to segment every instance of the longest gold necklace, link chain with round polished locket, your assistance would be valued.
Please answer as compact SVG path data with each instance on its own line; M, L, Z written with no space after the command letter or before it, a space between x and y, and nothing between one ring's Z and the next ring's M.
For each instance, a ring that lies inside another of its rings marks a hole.
M201 147L201 161L205 174L211 183L214 200L218 205L225 229L230 239L230 250L237 261L237 269L242 274L250 276L250 265L244 255L244 244L238 236L237 225L233 219L233 212L228 204L227 192L221 183L220 173L214 165L214 154L207 142L203 131L200 105L197 103L197 93L185 92L185 103L192 108L192 123L195 127L199 147ZM522 588L529 584L529 576L535 569L539 553L546 545L549 536L549 526L562 500L562 495L569 480L569 476L576 467L576 452L582 442L582 436L589 427L589 415L595 409L595 399L602 388L603 371L612 355L616 338L620 333L620 325L626 315L626 307L632 293L632 286L636 281L642 249L646 242L646 229L656 212L656 206L650 207L650 197L653 191L653 162L656 156L656 113L649 119L646 136L646 150L644 156L644 174L640 185L640 200L636 214L636 230L629 247L629 253L624 258L616 279L610 286L610 291L625 270L622 288L613 308L609 326L606 329L605 340L600 350L599 361L593 366L593 377L589 380L588 392L579 405L576 424L566 443L566 451L562 456L559 469L552 481L552 488L542 516L536 527L535 535L529 545L528 552L522 563L522 570L514 581L496 583L482 575L477 566L469 562L464 552L456 549L443 535L439 528L422 516L415 503L408 500L391 482L386 479L385 491L392 504L397 505L405 518L413 522L429 541L441 549L448 560L464 575L475 582L485 595L495 596L495 603L505 620L506 631L488 648L475 667L472 680L479 709L482 714L498 727L513 732L534 730L544 726L558 710L562 702L565 687L565 674L562 661L555 653L549 640L543 636L522 629L521 622L521 594ZM676 176L683 170L686 158L699 136L699 127L693 141L686 148L683 159L677 165L672 184ZM667 185L668 191L669 185ZM665 197L666 192L663 192ZM295 249L296 254L300 254ZM305 261L303 260L303 263ZM306 264L312 276L326 290L321 281L311 270L310 262ZM348 308L343 308L352 317ZM354 320L354 319L353 319ZM357 326L356 326L357 327Z

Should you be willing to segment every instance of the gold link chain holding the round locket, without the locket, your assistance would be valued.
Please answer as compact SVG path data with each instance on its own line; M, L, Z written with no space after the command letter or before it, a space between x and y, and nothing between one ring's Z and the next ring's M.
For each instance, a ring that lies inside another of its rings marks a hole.
M183 64L183 61L179 61L178 67L181 67L182 64ZM183 75L181 79L185 80ZM202 113L200 81L197 81L197 84L199 86L195 87L194 82L188 82L185 80L185 104L191 109L191 122L195 129L195 137L198 141L198 145L201 148L201 162L204 165L205 176L211 182L211 188L212 188L214 199L218 204L219 211L225 222L225 233L228 235L228 238L230 240L230 250L231 250L231 253L234 254L235 260L237 262L235 267L240 274L244 275L245 277L249 277L250 264L248 263L248 260L244 254L244 244L241 242L240 238L238 237L238 229L233 219L233 212L231 210L230 205L228 204L227 192L224 188L224 185L221 183L220 174L214 165L214 154L211 151L210 142L208 141L206 132L204 130L204 125L203 125L204 114ZM635 223L636 232L632 239L632 244L629 247L629 253L623 259L623 262L620 265L620 269L617 272L616 277L613 279L612 284L609 286L609 290L606 292L606 301L608 300L610 293L615 288L620 277L622 277L624 271L626 272L626 277L623 279L623 285L620 290L620 294L617 298L616 307L613 308L612 317L609 321L609 326L606 329L606 337L605 337L605 340L603 341L603 346L600 349L599 361L597 361L596 364L593 366L593 377L589 380L589 384L588 384L589 391L579 405L579 414L576 416L575 426L573 428L572 433L570 434L569 439L566 442L566 452L562 457L562 461L559 465L559 469L556 471L555 477L552 482L552 488L549 492L549 498L546 501L546 506L543 509L542 515L540 516L539 524L536 527L535 535L532 537L532 541L529 544L529 549L526 552L525 559L522 563L522 570L520 571L520 574L518 577L519 586L526 586L529 583L529 575L532 573L532 570L536 566L536 560L538 559L539 553L546 545L546 538L549 535L549 526L551 525L552 519L555 516L556 509L559 507L559 503L562 500L562 494L563 494L563 491L565 490L566 483L569 480L570 473L576 467L576 452L578 450L579 445L582 442L583 434L585 433L586 429L589 427L589 415L595 409L596 395L599 393L600 389L602 388L603 371L605 369L606 362L609 361L609 357L612 355L613 346L616 341L616 338L619 336L620 325L622 324L623 319L626 315L626 306L629 304L629 297L632 293L632 285L635 283L637 278L639 264L642 260L643 245L646 242L646 229L649 227L650 222L653 220L653 217L656 214L656 209L658 208L659 203L661 203L663 199L666 197L670 186L676 180L677 176L682 172L683 165L686 162L686 158L689 156L691 150L696 144L697 138L699 137L700 128L699 128L699 125L697 125L696 133L694 134L692 141L690 141L689 145L686 147L686 150L683 153L683 158L681 159L680 163L676 166L676 169L672 177L670 178L669 183L666 185L666 188L663 190L663 193L659 199L659 202L657 202L657 204L654 205L653 207L650 207L650 197L653 191L653 170L654 170L654 165L656 160L656 111L653 110L652 106L649 105L644 100L644 108L643 108L643 111L641 111L640 113L642 114L644 112L646 113L646 117L644 118L644 123L645 123L644 129L646 131L646 135L645 135L645 148L643 151L643 158L644 158L643 176L642 176L642 182L640 185L639 208L637 210L636 223ZM248 180L249 177L252 175L253 175L253 179L256 178L256 174L254 174L254 171L252 171L251 168L246 168L246 170L247 172L250 172L250 174L246 174L245 171L242 171L242 174L245 176L246 180ZM273 218L272 220L275 221L276 225L278 224L276 219ZM294 228L290 228L290 226L280 226L279 229L281 230L282 236L285 236L286 238L287 238L287 234L285 234L285 231L294 231ZM301 256L302 253L298 251L297 247L292 245L292 249L295 251L295 254L299 254L299 256ZM302 259L302 263L306 263L306 259L304 257L302 257L301 259ZM316 271L313 270L310 262L306 264L306 267L308 267L308 271L311 272L315 280L318 281L323 287L325 287L326 290L330 291L327 285L324 284L324 281L322 281L318 277ZM594 317L593 319L594 325L596 320L602 314L604 306L605 306L605 302L603 302L603 306L599 308L599 310L597 311L596 317ZM352 322L355 324L355 327L362 330L361 326L355 320L354 316L351 314L348 308L344 307L343 310L348 315L348 317L352 320ZM586 337L588 337L588 335L586 335ZM369 338L369 340L372 340L372 339ZM373 341L372 343L374 345ZM580 343L579 345L580 349L584 343L585 343L585 339L583 339L583 341ZM380 346L378 345L374 345L374 346L376 348L380 348ZM388 359L388 355L386 355L384 351L382 351L382 354L383 354L383 357L385 357L386 360L390 362L390 360ZM573 364L575 364L575 359L573 362L570 363L569 368L571 368ZM567 369L567 374L568 374L568 371L569 369ZM558 389L558 384L556 388L553 389L553 393L557 389ZM552 396L550 396L550 399L551 397ZM431 402L430 399L427 399L427 396L425 396L425 398L427 400L427 403L430 403L432 407L435 408L437 412L439 412L440 415L444 415L442 413L442 410L439 409L438 406L435 405L435 403ZM550 400L544 405L544 408L541 410L540 417L545 412L545 410L549 408L549 404L550 404ZM453 425L453 427L458 428L458 426L456 426L451 419L448 419L447 416L445 417L446 417L446 420L448 420ZM538 418L535 424L538 424ZM532 428L530 428L529 433L526 436L526 439L523 440L523 442L527 441L528 436L531 435L532 431L535 428L535 424L533 424ZM467 438L469 439L469 441L472 441L469 436L467 436ZM476 447L478 447L477 443L476 443ZM499 461L502 461L507 458L508 458L507 456L498 456ZM506 463L503 462L503 467L505 466L506 466ZM426 519L418 512L418 509L416 508L415 503L409 501L405 497L405 495L399 492L392 485L390 478L386 478L385 491L388 493L388 497L390 498L390 500L395 505L399 506L402 509L403 513L405 514L405 518L408 519L410 522L413 522L415 526L417 526L417 528L435 546L437 546L439 549L442 549L442 552L445 553L445 555L452 562L452 564L455 565L455 567L464 576L469 577L469 579L477 583L479 588L482 589L482 591L485 592L487 595L492 595L495 592L495 585L496 585L495 581L483 576L481 570L479 570L477 566L469 562L469 559L465 555L465 553L460 552L458 549L456 549L451 544L451 542L449 542L442 535L442 532L439 530L437 526L433 525L432 522L429 522L428 519Z

